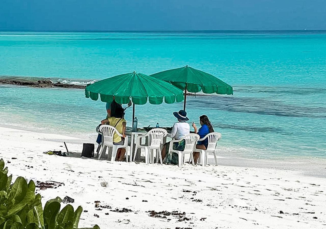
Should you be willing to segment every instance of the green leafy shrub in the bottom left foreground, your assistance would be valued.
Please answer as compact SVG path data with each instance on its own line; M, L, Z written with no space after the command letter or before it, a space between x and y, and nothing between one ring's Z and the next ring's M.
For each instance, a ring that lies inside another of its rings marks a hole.
M0 160L0 229L77 229L82 207L76 211L68 204L61 209L61 198L46 202L42 208L41 195L35 195L35 184L27 184L18 177L13 184L12 175ZM93 228L99 229L97 225Z

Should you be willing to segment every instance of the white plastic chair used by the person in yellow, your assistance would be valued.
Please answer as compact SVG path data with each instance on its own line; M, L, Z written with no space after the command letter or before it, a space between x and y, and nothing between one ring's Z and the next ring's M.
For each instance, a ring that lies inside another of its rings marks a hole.
M101 125L99 128L99 132L102 134L102 150L98 156L98 159L101 158L102 154L105 154L106 148L109 147L109 149L112 149L111 153L111 161L115 160L115 157L117 155L117 151L120 148L126 149L126 161L128 161L128 137L125 137L125 144L124 145L113 145L113 135L114 133L117 134L120 137L123 137L115 127L110 125ZM110 150L109 150L110 152ZM109 156L108 156L109 160Z

